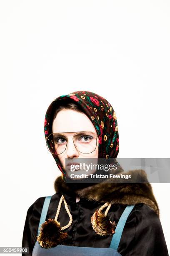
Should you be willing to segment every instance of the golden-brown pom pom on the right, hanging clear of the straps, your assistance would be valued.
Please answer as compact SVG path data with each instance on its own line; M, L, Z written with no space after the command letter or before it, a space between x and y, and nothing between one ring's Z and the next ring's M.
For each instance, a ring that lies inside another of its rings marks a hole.
M115 233L115 221L112 223L108 216L96 210L91 217L92 228L100 236L111 236Z

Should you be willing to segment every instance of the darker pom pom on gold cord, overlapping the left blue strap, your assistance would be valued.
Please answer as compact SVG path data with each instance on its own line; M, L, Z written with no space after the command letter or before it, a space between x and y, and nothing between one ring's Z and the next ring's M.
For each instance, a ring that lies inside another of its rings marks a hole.
M48 219L42 223L37 241L44 248L55 247L67 238L67 233L60 229L60 223L54 219Z

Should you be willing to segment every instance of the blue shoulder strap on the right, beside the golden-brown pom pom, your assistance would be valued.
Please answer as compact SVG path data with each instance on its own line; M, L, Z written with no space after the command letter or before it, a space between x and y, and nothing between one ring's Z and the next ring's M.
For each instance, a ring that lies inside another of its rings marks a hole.
M117 223L117 226L115 229L115 234L113 235L112 241L110 243L110 248L113 248L116 251L117 251L117 248L120 243L120 238L122 236L122 232L123 232L123 228L125 226L126 220L127 220L128 216L130 215L130 212L133 210L134 206L135 205L127 205Z

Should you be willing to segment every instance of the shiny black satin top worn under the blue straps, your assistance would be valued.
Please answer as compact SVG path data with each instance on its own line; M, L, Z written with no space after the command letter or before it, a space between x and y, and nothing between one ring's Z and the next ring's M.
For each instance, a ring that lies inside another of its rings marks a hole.
M55 218L58 203L62 194L52 195L47 212L48 218ZM72 214L72 225L65 230L67 240L63 245L100 247L110 246L112 236L100 236L95 233L91 224L91 216L102 204L80 199L63 194ZM22 256L31 256L37 241L37 230L45 197L38 198L28 209L23 231L22 247L29 247L30 253ZM108 217L113 222L118 222L126 205L113 204L108 212ZM61 226L67 225L69 217L62 202L58 221ZM168 256L163 229L158 215L145 204L136 204L128 216L117 250L122 256Z

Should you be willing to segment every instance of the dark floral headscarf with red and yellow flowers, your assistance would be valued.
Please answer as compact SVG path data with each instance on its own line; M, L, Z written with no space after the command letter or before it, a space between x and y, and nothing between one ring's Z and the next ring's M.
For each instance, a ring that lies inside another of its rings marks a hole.
M68 95L57 97L47 109L45 114L44 132L45 138L52 133L52 119L56 110L56 102L70 99L83 108L84 113L90 118L99 136L98 158L116 158L119 153L119 134L117 118L114 109L107 100L94 92L77 91ZM65 176L65 169L57 155L52 154L56 164Z

